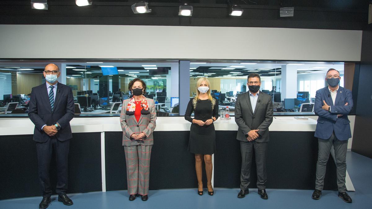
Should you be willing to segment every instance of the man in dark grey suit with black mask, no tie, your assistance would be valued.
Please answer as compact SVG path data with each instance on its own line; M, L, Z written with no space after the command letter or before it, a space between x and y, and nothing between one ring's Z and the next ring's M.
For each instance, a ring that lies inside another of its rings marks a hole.
M235 102L236 138L240 141L241 175L239 198L249 193L252 153L257 165L257 189L262 199L268 199L265 183L266 151L269 142L269 126L273 122L273 101L269 94L260 90L261 78L257 73L248 75L249 91L240 94Z

